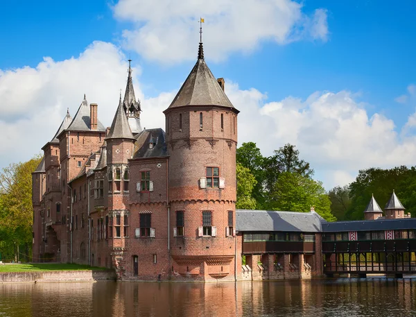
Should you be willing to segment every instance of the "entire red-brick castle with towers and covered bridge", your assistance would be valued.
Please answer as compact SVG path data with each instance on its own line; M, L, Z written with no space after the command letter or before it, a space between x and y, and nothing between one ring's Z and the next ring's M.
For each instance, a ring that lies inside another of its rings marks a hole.
M84 96L42 148L33 173L33 260L114 268L119 280L260 280L333 273L341 252L375 250L372 242L368 250L350 249L372 232L406 231L415 239L415 219L402 223L394 193L387 225L375 220L382 211L374 198L359 225L326 223L313 210L236 210L239 110L224 85L200 42L196 65L164 110L166 132L141 129L130 61L110 128ZM344 248L345 241L354 242ZM416 244L409 269L414 250ZM399 252L396 243L391 252Z

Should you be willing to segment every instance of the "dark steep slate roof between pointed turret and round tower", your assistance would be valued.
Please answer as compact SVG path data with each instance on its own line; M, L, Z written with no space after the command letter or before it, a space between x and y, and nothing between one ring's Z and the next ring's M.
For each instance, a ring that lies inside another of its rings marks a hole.
M133 158L162 157L168 155L165 132L161 128L145 129L136 135L136 140ZM150 148L150 143L153 144L153 148Z

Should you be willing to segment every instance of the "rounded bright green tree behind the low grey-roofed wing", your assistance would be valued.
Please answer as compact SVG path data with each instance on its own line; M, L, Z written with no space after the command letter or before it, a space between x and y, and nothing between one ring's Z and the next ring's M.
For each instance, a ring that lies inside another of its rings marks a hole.
M271 194L272 209L291 212L309 212L311 206L327 221L335 221L331 214L331 201L322 182L317 182L300 173L284 172L279 175Z

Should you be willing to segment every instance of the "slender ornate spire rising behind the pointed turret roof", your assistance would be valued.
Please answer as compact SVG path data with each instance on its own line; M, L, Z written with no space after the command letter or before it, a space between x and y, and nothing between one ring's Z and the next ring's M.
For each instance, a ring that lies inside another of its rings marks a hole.
M127 85L125 87L125 94L123 100L123 109L128 118L128 123L130 125L130 130L132 133L136 134L141 131L140 124L140 112L141 105L140 101L136 100L135 88L133 87L132 80L132 60L128 60L128 78Z

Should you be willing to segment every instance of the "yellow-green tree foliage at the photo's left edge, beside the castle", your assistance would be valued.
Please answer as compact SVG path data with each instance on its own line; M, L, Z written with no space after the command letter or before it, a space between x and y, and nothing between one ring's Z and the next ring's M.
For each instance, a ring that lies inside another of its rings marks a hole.
M15 255L17 246L32 245L32 172L41 160L10 164L0 172L0 252Z

